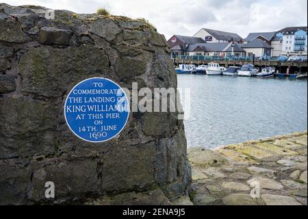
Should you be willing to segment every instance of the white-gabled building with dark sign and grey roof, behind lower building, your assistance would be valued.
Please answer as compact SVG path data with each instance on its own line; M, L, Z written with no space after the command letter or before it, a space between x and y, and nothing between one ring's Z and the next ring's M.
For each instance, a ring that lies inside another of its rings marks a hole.
M243 38L238 34L222 32L219 30L211 30L202 28L194 37L202 38L206 43L243 43Z

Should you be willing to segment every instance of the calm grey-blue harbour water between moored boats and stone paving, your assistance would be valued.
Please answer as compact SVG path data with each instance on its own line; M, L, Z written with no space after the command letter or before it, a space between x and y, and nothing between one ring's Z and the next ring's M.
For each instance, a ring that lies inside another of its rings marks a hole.
M178 87L191 89L188 147L307 130L307 80L178 75Z

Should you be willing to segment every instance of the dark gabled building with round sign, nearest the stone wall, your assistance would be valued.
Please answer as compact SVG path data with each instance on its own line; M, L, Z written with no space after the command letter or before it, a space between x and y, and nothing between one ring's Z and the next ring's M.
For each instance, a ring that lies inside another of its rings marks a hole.
M172 57L184 55L189 45L195 45L198 43L205 43L205 41L203 41L202 38L181 35L174 35L168 40Z

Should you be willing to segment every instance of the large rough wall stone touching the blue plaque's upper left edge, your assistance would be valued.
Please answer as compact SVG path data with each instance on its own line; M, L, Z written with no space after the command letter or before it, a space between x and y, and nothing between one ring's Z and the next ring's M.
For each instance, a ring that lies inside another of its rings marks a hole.
M110 77L108 56L93 45L35 47L18 63L22 91L46 97L60 97L77 81L94 76Z

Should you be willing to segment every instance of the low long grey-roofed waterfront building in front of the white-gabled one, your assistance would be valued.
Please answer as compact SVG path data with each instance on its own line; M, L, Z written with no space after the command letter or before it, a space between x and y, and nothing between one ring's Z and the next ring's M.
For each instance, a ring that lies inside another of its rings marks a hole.
M189 56L245 56L246 51L240 43L199 43L189 45L185 51Z

